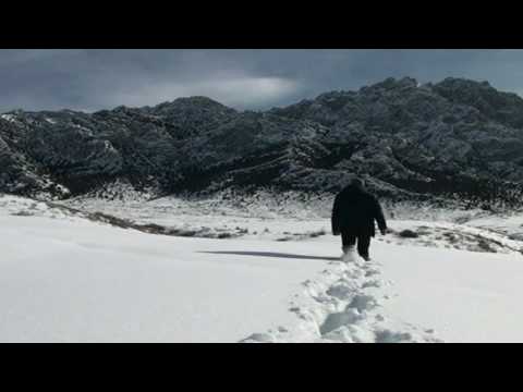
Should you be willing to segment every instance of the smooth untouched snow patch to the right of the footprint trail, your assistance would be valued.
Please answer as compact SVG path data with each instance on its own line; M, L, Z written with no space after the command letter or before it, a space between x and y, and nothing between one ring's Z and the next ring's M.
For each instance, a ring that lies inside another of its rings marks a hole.
M387 309L447 342L523 342L523 257L454 249L376 248L394 282Z

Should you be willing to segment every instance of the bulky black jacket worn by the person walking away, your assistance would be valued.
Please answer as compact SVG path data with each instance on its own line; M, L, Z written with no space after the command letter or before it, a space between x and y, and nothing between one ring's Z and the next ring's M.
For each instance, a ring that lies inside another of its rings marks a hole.
M365 189L349 185L335 199L332 208L332 233L375 236L374 220L381 232L387 230L384 212L378 200Z

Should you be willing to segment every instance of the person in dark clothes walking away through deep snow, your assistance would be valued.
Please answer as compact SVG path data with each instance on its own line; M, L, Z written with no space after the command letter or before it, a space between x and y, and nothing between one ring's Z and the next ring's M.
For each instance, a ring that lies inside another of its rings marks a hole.
M381 206L365 191L362 180L353 180L336 196L332 208L332 234L341 234L343 257L353 250L357 241L357 253L366 261L370 260L368 247L370 237L376 235L375 220L385 235L387 222Z

